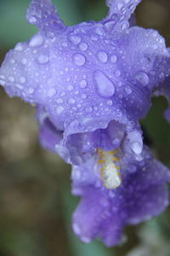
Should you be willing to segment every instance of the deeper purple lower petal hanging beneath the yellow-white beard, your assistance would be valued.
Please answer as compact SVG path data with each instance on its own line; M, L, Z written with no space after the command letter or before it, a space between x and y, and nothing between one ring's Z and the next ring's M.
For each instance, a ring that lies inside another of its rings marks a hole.
M73 230L82 241L99 237L107 246L114 246L122 241L125 225L139 224L167 207L165 183L170 181L170 172L153 159L148 148L144 147L142 155L143 160L136 161L130 151L125 151L118 165L126 178L122 177L122 186L117 189L107 189L101 182L101 156L95 155L82 166L73 166L72 193L82 196L73 215ZM112 160L112 172L116 165Z

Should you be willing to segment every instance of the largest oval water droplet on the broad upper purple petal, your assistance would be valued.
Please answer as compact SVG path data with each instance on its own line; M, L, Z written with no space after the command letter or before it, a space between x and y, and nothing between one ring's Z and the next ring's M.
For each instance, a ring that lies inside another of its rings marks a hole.
M115 86L101 71L94 72L94 84L100 96L111 97L115 94Z

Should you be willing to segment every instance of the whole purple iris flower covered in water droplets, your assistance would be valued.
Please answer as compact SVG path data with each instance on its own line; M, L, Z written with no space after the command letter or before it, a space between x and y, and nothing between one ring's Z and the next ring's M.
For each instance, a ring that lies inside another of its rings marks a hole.
M110 246L124 225L167 206L169 174L143 149L139 119L152 95L170 98L170 53L158 32L130 19L140 0L106 3L104 20L68 27L50 0L32 0L27 20L39 32L8 52L0 82L36 104L42 146L74 165L77 235Z

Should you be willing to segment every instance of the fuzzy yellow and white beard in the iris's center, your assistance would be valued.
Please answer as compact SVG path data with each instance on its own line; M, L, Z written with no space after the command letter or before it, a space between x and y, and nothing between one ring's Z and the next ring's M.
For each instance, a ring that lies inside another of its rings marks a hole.
M105 151L98 148L99 172L101 180L106 189L116 189L122 183L119 158L116 156L118 150Z

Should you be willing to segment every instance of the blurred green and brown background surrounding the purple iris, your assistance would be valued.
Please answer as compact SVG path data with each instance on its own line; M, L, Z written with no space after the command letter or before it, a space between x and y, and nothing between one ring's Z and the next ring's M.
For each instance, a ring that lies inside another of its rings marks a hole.
M26 23L29 0L0 0L0 61L19 41L37 29ZM54 0L67 25L100 20L105 0ZM152 27L170 46L170 1L143 0L137 24ZM163 97L154 98L141 123L144 139L156 158L170 166L170 125L163 119ZM71 166L38 143L35 109L0 88L0 256L170 256L170 210L158 218L128 227L122 245L100 241L83 244L71 231Z

